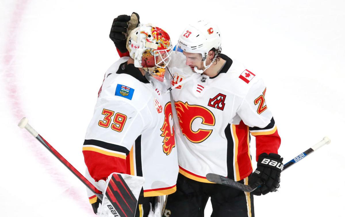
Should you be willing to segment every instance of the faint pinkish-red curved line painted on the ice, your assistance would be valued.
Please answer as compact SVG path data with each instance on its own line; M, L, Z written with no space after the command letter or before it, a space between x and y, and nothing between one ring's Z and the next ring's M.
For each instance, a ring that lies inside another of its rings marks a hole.
M16 75L19 73L17 72L16 68L16 51L17 51L17 43L18 38L20 35L20 24L22 24L22 18L24 13L26 12L26 8L28 7L28 0L19 0L15 3L14 10L12 13L12 17L10 18L9 28L7 32L7 39L5 41L4 46L4 57L3 57L3 66L4 66L4 73L3 73L3 83L5 89L5 95L8 98L9 102L9 109L12 112L12 116L14 118L14 123L18 123L19 120L24 117L24 109L23 105L21 104L21 98L19 94L18 84ZM25 146L33 154L38 161L44 165L49 171L49 174L52 176L53 180L56 181L57 185L61 188L65 188L66 194L73 198L80 208L83 209L90 209L88 203L85 203L83 198L85 195L80 194L73 188L70 188L67 183L67 180L63 178L63 175L59 173L54 165L51 163L54 157L48 153L41 144L38 143L36 139L34 139L28 132L25 130L20 130L18 128L18 132L21 132L24 141L27 141L29 145ZM56 160L56 159L54 159ZM85 198L86 199L86 198Z

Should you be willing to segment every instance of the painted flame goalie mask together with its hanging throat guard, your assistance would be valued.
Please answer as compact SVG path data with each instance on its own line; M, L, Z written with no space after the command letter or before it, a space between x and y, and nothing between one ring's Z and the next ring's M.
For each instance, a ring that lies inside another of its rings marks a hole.
M143 68L148 81L167 93L172 79L166 70L172 51L168 33L152 24L139 24L129 33L127 50L134 59L134 66Z

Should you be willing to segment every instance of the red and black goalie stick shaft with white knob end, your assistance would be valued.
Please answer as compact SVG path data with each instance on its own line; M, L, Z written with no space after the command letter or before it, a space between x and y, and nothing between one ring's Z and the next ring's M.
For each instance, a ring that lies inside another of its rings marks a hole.
M56 156L56 158L59 159L59 161L61 163L63 163L63 165L65 165L75 176L77 176L79 178L79 180L84 185L86 185L86 187L88 187L90 189L90 191L92 191L93 194L95 194L100 200L102 200L103 199L102 192L99 191L95 186L93 186L91 184L91 182L89 182L89 180L87 180L59 152L57 152L45 139L43 139L43 137L41 137L41 135L38 134L38 132L36 130L34 130L28 122L29 121L27 118L22 118L20 120L20 122L18 123L18 127L25 128L27 131L29 131L29 133L31 133L31 135L33 135L33 137L35 137L38 141L40 141L40 143L42 143L42 145L44 145L44 147L46 147L54 156Z

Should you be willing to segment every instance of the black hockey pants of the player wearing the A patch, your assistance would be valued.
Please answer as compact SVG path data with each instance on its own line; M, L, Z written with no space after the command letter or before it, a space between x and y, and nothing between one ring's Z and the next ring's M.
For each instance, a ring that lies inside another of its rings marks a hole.
M168 196L165 217L204 217L209 197L213 208L211 217L254 217L253 194L224 185L197 182L181 174L176 187L176 192Z

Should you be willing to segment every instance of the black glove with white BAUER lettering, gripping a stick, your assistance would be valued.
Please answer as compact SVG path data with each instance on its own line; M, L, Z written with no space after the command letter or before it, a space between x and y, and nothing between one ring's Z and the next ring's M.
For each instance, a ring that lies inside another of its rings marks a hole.
M256 170L250 174L248 184L254 184L261 180L264 182L260 187L255 189L252 193L260 196L268 192L275 192L279 188L280 173L283 170L283 158L275 153L262 153L259 155L259 160Z

